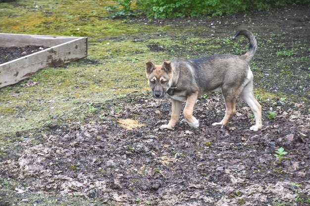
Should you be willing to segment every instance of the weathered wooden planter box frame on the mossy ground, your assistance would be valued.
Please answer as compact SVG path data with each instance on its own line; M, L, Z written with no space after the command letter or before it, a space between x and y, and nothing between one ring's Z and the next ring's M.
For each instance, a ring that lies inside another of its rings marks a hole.
M41 69L61 66L87 56L86 37L0 33L1 47L25 47L28 45L50 48L0 64L0 87L17 83Z

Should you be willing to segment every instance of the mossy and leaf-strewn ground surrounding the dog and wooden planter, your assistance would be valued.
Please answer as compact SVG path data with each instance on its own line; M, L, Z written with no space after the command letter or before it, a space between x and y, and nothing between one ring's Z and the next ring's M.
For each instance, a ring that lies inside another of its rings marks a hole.
M149 20L111 19L100 3L0 3L2 33L89 37L87 58L0 88L0 206L310 203L308 7ZM158 130L171 103L152 98L145 62L245 53L245 38L230 39L242 27L258 40L263 128L249 130L241 100L211 126L225 113L211 93L195 106L198 129Z

